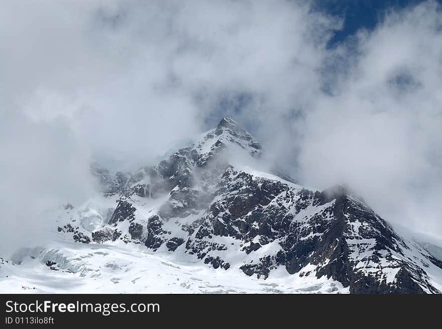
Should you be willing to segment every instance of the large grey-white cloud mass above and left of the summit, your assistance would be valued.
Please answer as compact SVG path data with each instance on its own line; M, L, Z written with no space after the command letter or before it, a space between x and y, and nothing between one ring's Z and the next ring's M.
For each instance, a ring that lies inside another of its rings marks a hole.
M274 111L317 92L339 25L288 1L1 6L2 227L22 237L2 250L41 236L51 206L86 198L91 161L144 165L224 115L270 132Z

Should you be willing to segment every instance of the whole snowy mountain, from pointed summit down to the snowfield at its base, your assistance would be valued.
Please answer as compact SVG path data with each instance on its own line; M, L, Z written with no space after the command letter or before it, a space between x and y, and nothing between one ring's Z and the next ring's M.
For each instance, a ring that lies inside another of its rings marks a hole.
M346 187L254 169L262 152L224 118L153 167L92 168L100 195L54 216L51 245L2 259L2 291L442 291L442 249L400 236Z

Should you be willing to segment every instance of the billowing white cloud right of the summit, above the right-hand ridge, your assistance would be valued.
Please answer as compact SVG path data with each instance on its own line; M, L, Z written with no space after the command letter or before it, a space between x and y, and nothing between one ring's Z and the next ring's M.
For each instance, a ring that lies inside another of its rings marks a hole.
M348 67L330 70L333 95L307 111L299 146L303 180L348 182L387 220L439 237L440 13L434 2L392 12L329 54Z

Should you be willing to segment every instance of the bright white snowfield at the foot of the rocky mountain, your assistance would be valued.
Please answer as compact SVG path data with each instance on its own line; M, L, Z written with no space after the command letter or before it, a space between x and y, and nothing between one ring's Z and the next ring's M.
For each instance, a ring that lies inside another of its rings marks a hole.
M149 254L144 246L128 247L118 242L58 242L23 251L20 265L0 260L0 289L3 293L348 292L339 282L325 277L318 280L313 274L300 277L274 271L267 280L260 280L240 269L220 271L204 262L177 258L169 253Z

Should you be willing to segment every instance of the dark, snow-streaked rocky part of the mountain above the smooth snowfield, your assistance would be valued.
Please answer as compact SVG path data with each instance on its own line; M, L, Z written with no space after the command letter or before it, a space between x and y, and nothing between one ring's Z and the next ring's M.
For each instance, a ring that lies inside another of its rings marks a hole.
M426 270L439 271L442 261L397 235L361 197L342 186L310 191L285 174L233 167L224 158L232 147L262 153L247 131L224 118L152 168L115 177L96 171L103 194L118 195L118 205L90 238L141 242L152 252L179 252L263 279L281 267L299 277L314 273L352 293L440 292ZM90 242L89 233L70 224L59 232Z

